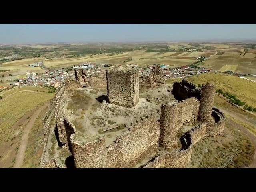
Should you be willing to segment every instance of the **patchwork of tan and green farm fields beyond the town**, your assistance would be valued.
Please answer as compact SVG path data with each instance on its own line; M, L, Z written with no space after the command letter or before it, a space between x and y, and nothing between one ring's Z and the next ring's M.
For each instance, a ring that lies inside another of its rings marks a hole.
M249 48L249 47L250 48ZM28 64L44 60L47 68L62 68L82 62L108 64L169 65L171 68L190 65L201 56L200 63L213 70L232 70L256 74L255 44L148 43L148 44L47 44L3 47L2 56L17 54L17 58L2 58L0 70L37 71ZM39 57L38 57L39 56ZM16 56L15 56L16 57ZM132 60L130 60L132 58ZM4 60L3 60L4 59ZM18 60L16 60L18 59Z

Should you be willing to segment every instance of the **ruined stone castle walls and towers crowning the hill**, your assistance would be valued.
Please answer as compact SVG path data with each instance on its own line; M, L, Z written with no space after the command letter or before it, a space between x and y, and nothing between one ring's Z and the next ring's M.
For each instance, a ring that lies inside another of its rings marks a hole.
M160 75L161 76L161 75ZM159 76L157 82L162 82ZM101 110L120 112L127 108L136 110L139 99L138 72L136 70L109 70L106 73L108 104ZM74 80L66 80L56 97L63 103L65 89L75 89ZM86 89L86 88L85 88ZM175 82L172 94L176 101L162 104L155 112L137 118L120 127L99 130L98 134L85 135L72 124L66 109L56 110L57 129L62 134L63 146L69 148L76 168L182 168L190 161L193 145L205 136L221 134L225 126L224 114L212 108L215 86L204 84L196 89L194 84ZM171 95L171 93L170 93ZM178 98L178 99L177 99ZM147 105L149 103L146 103ZM157 112L158 111L158 112ZM101 111L102 113L103 111ZM117 112L119 113L119 112ZM159 115L159 114L160 115ZM131 115L131 114L130 114ZM128 118L128 117L126 117ZM186 127L186 129L184 128ZM177 138L177 132L185 129ZM63 132L63 130L65 130ZM108 138L116 133L116 138ZM180 144L180 145L178 145ZM63 167L58 157L41 162L42 167Z

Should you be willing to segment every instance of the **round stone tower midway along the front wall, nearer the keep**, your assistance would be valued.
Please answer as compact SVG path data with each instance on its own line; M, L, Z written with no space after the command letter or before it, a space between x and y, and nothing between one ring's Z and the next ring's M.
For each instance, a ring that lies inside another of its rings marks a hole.
M159 146L166 150L170 150L175 142L180 114L178 110L177 104L163 104L161 106Z

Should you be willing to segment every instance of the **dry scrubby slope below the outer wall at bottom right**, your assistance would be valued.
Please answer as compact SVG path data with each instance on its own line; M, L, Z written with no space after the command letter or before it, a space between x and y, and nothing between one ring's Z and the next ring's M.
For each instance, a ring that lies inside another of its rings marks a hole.
M227 120L222 135L202 138L194 145L188 167L246 167L252 162L253 152L252 141L231 120Z

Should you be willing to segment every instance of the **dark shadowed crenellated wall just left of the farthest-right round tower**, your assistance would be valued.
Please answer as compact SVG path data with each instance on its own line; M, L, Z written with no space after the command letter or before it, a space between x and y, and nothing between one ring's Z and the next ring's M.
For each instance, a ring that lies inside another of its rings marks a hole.
M201 100L201 90L197 89L196 85L189 83L187 80L182 80L180 83L174 82L172 94L179 101L191 97Z

